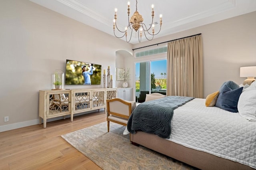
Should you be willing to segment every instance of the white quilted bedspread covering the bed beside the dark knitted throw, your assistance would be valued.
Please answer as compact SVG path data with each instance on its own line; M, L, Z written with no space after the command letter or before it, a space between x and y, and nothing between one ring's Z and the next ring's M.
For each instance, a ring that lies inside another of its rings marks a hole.
M172 142L256 168L256 122L194 99L174 110Z

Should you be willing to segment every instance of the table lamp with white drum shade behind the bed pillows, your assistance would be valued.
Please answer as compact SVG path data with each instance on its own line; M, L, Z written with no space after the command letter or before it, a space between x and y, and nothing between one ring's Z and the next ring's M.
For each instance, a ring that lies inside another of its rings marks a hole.
M251 85L252 82L256 81L254 77L256 77L256 66L251 67L240 67L240 77L247 77L244 80L244 85Z

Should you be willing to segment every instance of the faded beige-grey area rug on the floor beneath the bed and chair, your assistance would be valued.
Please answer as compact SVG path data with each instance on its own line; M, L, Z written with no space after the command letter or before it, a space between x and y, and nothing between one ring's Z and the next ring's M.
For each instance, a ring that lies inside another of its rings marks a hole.
M180 161L130 144L125 127L107 122L64 134L61 137L104 170L186 170L194 169Z

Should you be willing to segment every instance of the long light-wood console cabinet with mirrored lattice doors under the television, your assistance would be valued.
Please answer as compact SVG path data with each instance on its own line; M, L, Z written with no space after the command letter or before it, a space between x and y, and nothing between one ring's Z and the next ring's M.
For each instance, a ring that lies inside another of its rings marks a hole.
M72 90L40 90L39 91L39 125L47 119L70 115L73 121L74 114L92 110L104 109L106 99L116 98L116 88L72 89Z

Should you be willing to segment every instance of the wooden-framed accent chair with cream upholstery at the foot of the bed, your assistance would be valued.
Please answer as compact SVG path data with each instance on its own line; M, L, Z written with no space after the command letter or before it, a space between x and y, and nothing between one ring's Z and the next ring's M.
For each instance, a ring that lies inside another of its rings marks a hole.
M127 125L128 119L132 113L132 103L123 99L108 99L107 102L107 122L109 132L109 122ZM136 106L136 105L135 105Z

